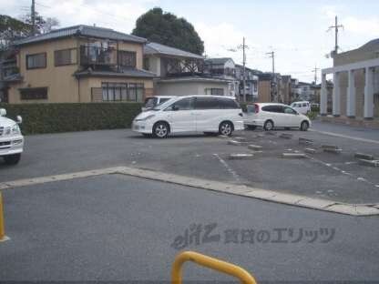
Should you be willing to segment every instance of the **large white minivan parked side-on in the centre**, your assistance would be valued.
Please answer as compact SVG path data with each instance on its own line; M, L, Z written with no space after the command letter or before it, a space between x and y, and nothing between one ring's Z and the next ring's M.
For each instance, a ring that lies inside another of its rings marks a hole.
M139 114L132 129L159 138L188 132L230 136L244 128L242 117L241 106L232 97L176 96Z

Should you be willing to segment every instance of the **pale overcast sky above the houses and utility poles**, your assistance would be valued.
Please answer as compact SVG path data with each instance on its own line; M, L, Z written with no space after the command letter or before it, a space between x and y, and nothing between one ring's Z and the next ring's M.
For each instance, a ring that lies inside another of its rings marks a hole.
M0 11L19 17L30 5L31 0L0 0ZM276 71L306 82L313 80L314 66L332 65L325 55L334 46L333 32L326 33L334 15L344 25L343 51L379 37L377 0L36 0L36 10L56 17L61 26L97 24L126 33L139 15L154 6L192 23L205 42L207 56L228 56L241 64L241 50L230 49L241 45L245 36L249 67L271 71L266 52L274 50Z

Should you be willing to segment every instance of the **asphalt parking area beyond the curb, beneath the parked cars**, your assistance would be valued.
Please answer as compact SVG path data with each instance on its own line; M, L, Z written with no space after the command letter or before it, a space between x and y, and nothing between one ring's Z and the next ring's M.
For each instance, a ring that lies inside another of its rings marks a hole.
M26 153L18 166L0 164L0 181L126 165L348 203L378 203L379 168L359 165L353 153L379 157L379 131L325 123L315 123L313 130L277 131L276 136L259 130L237 133L236 136L263 147L263 153L249 161L228 160L231 153L250 153L250 150L227 145L219 137L159 140L140 137L129 130L32 136L26 137ZM279 137L282 133L293 137L282 139ZM343 153L319 151L310 155L312 159L279 158L283 152L303 151L298 137L313 139L312 147L317 149L322 144L335 144L343 148Z

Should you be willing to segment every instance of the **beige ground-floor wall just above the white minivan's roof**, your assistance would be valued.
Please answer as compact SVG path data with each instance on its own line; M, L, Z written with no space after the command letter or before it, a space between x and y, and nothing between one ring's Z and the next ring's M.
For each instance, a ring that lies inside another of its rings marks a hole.
M208 83L208 82L158 82L156 84L156 96L189 96L189 95L210 95L206 94L206 89L222 88L224 96L228 95L228 83Z

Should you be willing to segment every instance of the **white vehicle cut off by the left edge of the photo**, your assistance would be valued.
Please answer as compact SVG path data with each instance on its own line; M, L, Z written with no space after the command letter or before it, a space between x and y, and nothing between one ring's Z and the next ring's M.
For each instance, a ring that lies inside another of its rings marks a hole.
M24 151L24 137L18 127L22 118L18 116L15 122L5 116L6 110L0 108L0 157L4 157L5 164L15 165Z

